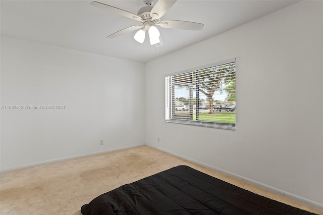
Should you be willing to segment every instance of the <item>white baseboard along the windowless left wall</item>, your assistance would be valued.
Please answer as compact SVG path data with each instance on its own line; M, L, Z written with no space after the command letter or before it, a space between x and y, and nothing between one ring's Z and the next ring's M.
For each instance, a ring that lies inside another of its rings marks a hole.
M60 162L60 161L63 161L63 160L69 160L69 159L79 158L79 157L86 157L86 156L90 156L90 155L94 155L94 154L102 154L102 153L112 152L112 151L119 151L119 150L128 149L128 148L135 148L135 147L139 147L139 146L145 146L145 144L133 145L133 146L127 146L127 147L121 147L121 148L115 148L115 149L110 149L110 150L106 150L106 151L97 151L97 152L86 153L86 154L78 154L78 155L74 155L74 156L61 157L61 158L51 159L51 160L44 160L42 162L35 162L35 163L31 163L31 164L26 164L26 165L16 166L16 167L12 167L12 168L7 168L7 169L4 169L4 170L1 170L0 172L2 173L2 172L12 171L12 170L23 169L23 168L27 168L27 167L36 167L36 166L40 166L40 165Z

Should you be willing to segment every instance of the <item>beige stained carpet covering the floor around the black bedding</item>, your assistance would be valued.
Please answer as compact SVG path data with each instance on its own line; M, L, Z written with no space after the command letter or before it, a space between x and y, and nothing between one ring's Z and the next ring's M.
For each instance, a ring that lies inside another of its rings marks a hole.
M311 212L311 208L181 158L142 146L0 174L0 214L79 214L83 204L123 184L187 165L254 193Z

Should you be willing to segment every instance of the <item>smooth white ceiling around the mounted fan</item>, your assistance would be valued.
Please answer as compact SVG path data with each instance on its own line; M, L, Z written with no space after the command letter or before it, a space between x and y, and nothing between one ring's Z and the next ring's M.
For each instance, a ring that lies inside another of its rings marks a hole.
M131 13L144 7L142 0L101 1ZM211 36L220 34L298 1L179 0L161 20L204 24L201 31L158 28L163 46L136 42L136 31L106 38L139 22L90 6L91 1L3 1L1 35L82 50L99 55L148 62Z

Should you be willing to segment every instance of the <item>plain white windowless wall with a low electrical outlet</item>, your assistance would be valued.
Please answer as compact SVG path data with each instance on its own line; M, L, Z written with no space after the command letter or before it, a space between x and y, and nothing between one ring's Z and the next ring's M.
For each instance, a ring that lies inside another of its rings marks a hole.
M1 105L65 105L1 110L1 171L145 144L143 63L1 37Z

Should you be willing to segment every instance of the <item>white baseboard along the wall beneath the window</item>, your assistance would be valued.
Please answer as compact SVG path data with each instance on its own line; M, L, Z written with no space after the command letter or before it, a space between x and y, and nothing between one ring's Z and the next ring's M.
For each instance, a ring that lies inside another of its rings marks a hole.
M148 146L150 146L150 145L148 145ZM150 147L153 147L153 146L150 146ZM312 200L310 200L310 199L303 198L303 197L298 196L298 195L295 195L295 194L293 194L293 193L289 193L289 192L286 192L286 191L284 191L284 190L280 190L280 189L278 189L278 188L275 188L275 187L272 187L272 186L269 186L269 185L266 185L266 184L263 184L263 183L260 183L260 182L254 181L254 180L252 180L252 179L249 179L249 178L246 178L246 177L243 177L243 176L240 176L240 175L237 175L237 174L234 174L234 173L231 173L231 172L228 172L228 171L222 170L222 169L220 169L220 168L217 168L217 167L214 167L214 166L211 166L211 165L205 164L205 163L203 163L203 162L199 162L198 160L191 159L191 158L189 158L189 157L185 157L185 156L182 156L182 155L180 155L180 154L176 154L176 153L173 153L173 152L167 151L167 150L162 149L162 148L159 148L159 147L153 147L153 148L156 148L156 149L158 149L158 150L160 150L160 151L164 151L164 152L166 152L166 153L168 153L168 154L172 154L172 155L174 155L174 156L177 156L177 157L183 158L183 159L185 159L185 160L188 160L188 161L190 161L190 162L192 162L192 163L195 163L195 164L198 164L198 165L200 165L200 166L206 167L206 168L208 168L208 169L216 170L216 171L218 171L218 172L224 173L224 174L226 174L226 175L232 176L232 177L237 178L237 179L240 179L240 180L242 180L242 181L246 181L246 182L248 182L248 183L250 183L250 184L256 185L256 186L258 186L258 187L264 188L264 189L266 189L266 190L268 190L268 191L271 191L271 192L273 192L273 193L277 193L277 194L279 194L279 195L282 195L282 196L285 196L285 197L287 197L287 198L293 199L293 200L295 200L295 201L301 202L301 203L306 204L306 205L308 205L308 206L315 207L315 208L317 208L317 209L319 209L319 210L323 210L323 204L320 204L320 203L318 203L318 202L316 202L316 201L312 201Z

